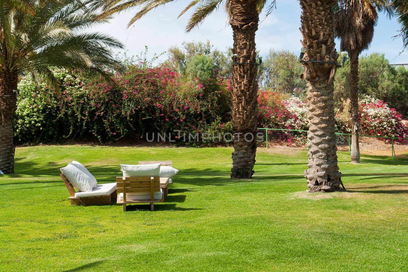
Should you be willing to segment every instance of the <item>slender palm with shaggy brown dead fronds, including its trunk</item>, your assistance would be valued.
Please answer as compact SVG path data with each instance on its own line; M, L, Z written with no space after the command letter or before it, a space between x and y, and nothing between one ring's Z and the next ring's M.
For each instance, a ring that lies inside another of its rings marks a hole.
M341 38L341 50L350 57L350 111L351 111L351 162L360 161L359 147L359 112L358 112L358 56L368 49L373 40L374 27L377 24L377 11L392 10L388 0L339 0L336 12L335 31Z

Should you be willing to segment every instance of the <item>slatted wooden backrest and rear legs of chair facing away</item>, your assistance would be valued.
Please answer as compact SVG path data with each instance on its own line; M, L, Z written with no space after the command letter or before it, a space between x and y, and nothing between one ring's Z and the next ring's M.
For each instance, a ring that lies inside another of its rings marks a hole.
M123 193L123 202L127 192L150 192L154 201L154 192L160 192L160 177L116 177L116 188L118 194Z

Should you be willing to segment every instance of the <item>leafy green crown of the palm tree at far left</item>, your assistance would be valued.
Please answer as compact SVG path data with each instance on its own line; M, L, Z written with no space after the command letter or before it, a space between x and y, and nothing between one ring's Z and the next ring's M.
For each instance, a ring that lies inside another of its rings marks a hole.
M117 39L102 33L78 31L101 23L91 12L92 0L27 0L33 13L0 4L0 73L32 73L56 87L52 69L93 73L109 80L109 71L123 64L110 48L123 48Z

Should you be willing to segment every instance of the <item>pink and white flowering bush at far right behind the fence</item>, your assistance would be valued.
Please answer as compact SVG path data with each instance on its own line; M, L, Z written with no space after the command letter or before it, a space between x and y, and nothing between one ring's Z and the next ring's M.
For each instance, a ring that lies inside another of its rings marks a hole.
M395 108L388 107L387 103L377 99L361 100L360 106L361 135L407 138L408 130L402 123L401 115ZM384 139L391 142L390 139ZM405 142L404 139L395 139L395 142Z

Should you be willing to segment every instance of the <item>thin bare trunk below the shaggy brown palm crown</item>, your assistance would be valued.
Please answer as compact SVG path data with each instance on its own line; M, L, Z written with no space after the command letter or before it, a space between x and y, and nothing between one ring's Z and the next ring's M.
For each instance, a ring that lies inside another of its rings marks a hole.
M350 54L351 55L351 54ZM353 128L351 134L351 162L360 162L360 145L358 141L360 123L358 113L358 55L350 58L350 111L351 111L351 126Z

